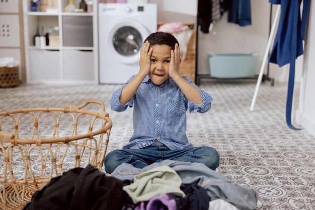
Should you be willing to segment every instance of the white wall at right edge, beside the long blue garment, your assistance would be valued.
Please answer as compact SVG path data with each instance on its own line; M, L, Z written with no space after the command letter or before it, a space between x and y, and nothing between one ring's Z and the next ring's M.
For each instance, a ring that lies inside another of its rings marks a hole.
M296 121L315 137L315 4L309 2L308 28L305 38L303 69L300 84L299 108Z

